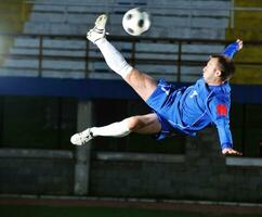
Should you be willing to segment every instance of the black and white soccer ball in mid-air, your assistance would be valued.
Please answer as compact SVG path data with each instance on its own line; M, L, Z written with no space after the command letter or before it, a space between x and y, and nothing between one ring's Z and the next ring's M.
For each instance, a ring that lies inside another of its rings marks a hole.
M141 8L131 9L122 17L122 27L131 36L140 36L150 27L149 14Z

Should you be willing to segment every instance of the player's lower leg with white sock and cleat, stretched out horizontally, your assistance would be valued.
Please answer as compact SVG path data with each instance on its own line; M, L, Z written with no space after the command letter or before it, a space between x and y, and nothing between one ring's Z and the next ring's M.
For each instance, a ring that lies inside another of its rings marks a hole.
M161 125L155 113L128 117L121 122L103 127L92 127L76 133L70 138L73 144L82 145L94 137L126 137L131 132L154 135L161 130Z

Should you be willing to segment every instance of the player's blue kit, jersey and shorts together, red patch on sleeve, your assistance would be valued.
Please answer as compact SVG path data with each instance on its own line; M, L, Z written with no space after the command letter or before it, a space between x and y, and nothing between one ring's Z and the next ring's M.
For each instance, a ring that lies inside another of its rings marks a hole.
M233 58L237 50L238 43L232 43L223 54ZM214 124L222 150L233 146L230 130L231 87L228 82L209 86L200 78L193 86L176 89L160 80L146 102L156 112L161 123L159 138L165 138L173 129L195 136L197 131Z

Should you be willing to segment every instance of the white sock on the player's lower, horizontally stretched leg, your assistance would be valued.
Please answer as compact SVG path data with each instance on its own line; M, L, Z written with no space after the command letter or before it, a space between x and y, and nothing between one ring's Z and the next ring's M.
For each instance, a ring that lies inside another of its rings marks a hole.
M126 120L113 123L104 127L92 127L90 130L93 137L126 137L131 132Z

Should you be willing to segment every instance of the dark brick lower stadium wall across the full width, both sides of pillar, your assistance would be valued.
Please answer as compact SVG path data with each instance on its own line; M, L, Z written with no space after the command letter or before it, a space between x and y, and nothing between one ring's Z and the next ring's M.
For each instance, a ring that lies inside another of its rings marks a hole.
M185 155L91 152L86 193L76 153L1 149L0 193L261 202L262 161L222 156L215 129L187 138Z

